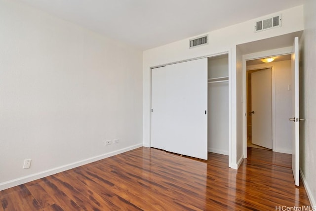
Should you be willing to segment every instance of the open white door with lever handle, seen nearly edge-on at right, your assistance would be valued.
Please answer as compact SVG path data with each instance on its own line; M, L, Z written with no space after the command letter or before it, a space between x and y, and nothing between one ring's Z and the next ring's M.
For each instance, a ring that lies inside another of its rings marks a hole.
M300 129L300 117L299 117L299 46L298 37L294 39L292 49L292 170L295 180L295 185L300 185L300 160L299 160L299 129Z

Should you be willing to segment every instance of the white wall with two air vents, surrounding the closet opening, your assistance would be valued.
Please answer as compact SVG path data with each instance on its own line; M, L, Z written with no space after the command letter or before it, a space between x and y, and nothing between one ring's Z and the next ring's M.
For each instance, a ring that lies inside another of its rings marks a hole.
M282 27L271 30L254 33L254 23L257 20L249 20L240 24L236 24L227 28L208 32L209 44L201 47L189 49L189 39L173 42L167 45L149 49L143 52L143 137L144 145L150 146L151 141L151 75L150 68L176 61L183 61L201 56L214 55L220 52L231 52L230 68L231 75L231 118L232 131L230 137L232 139L230 164L237 166L237 105L236 105L236 45L245 42L266 39L274 36L284 35L292 32L303 30L303 6L293 7L287 10L279 11L275 14L282 13ZM271 14L273 15L273 14ZM205 33L206 34L206 33ZM198 35L197 35L198 36ZM235 59L234 59L235 56ZM242 89L241 87L239 87ZM240 101L241 99L238 99ZM238 118L240 118L238 116ZM240 122L240 121L239 121ZM241 132L242 133L242 132ZM239 140L242 144L242 140ZM234 142L234 143L233 143ZM235 146L235 148L234 148ZM238 153L239 154L239 153ZM232 165L230 165L232 166Z

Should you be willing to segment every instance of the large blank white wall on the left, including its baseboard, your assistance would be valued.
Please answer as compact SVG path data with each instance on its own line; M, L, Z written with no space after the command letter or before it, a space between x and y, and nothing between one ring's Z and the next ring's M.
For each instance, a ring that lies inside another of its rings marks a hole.
M0 29L0 190L142 146L142 52L8 0Z

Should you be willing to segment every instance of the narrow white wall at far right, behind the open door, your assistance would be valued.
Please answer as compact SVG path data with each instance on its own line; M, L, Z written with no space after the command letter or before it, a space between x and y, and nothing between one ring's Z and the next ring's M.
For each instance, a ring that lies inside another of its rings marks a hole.
M316 1L306 0L302 63L300 68L300 167L305 189L312 205L316 206Z

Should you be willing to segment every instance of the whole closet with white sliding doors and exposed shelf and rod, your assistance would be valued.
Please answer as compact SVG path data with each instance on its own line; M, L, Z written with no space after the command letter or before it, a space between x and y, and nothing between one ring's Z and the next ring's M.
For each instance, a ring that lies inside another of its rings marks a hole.
M228 55L152 69L151 146L228 154Z

